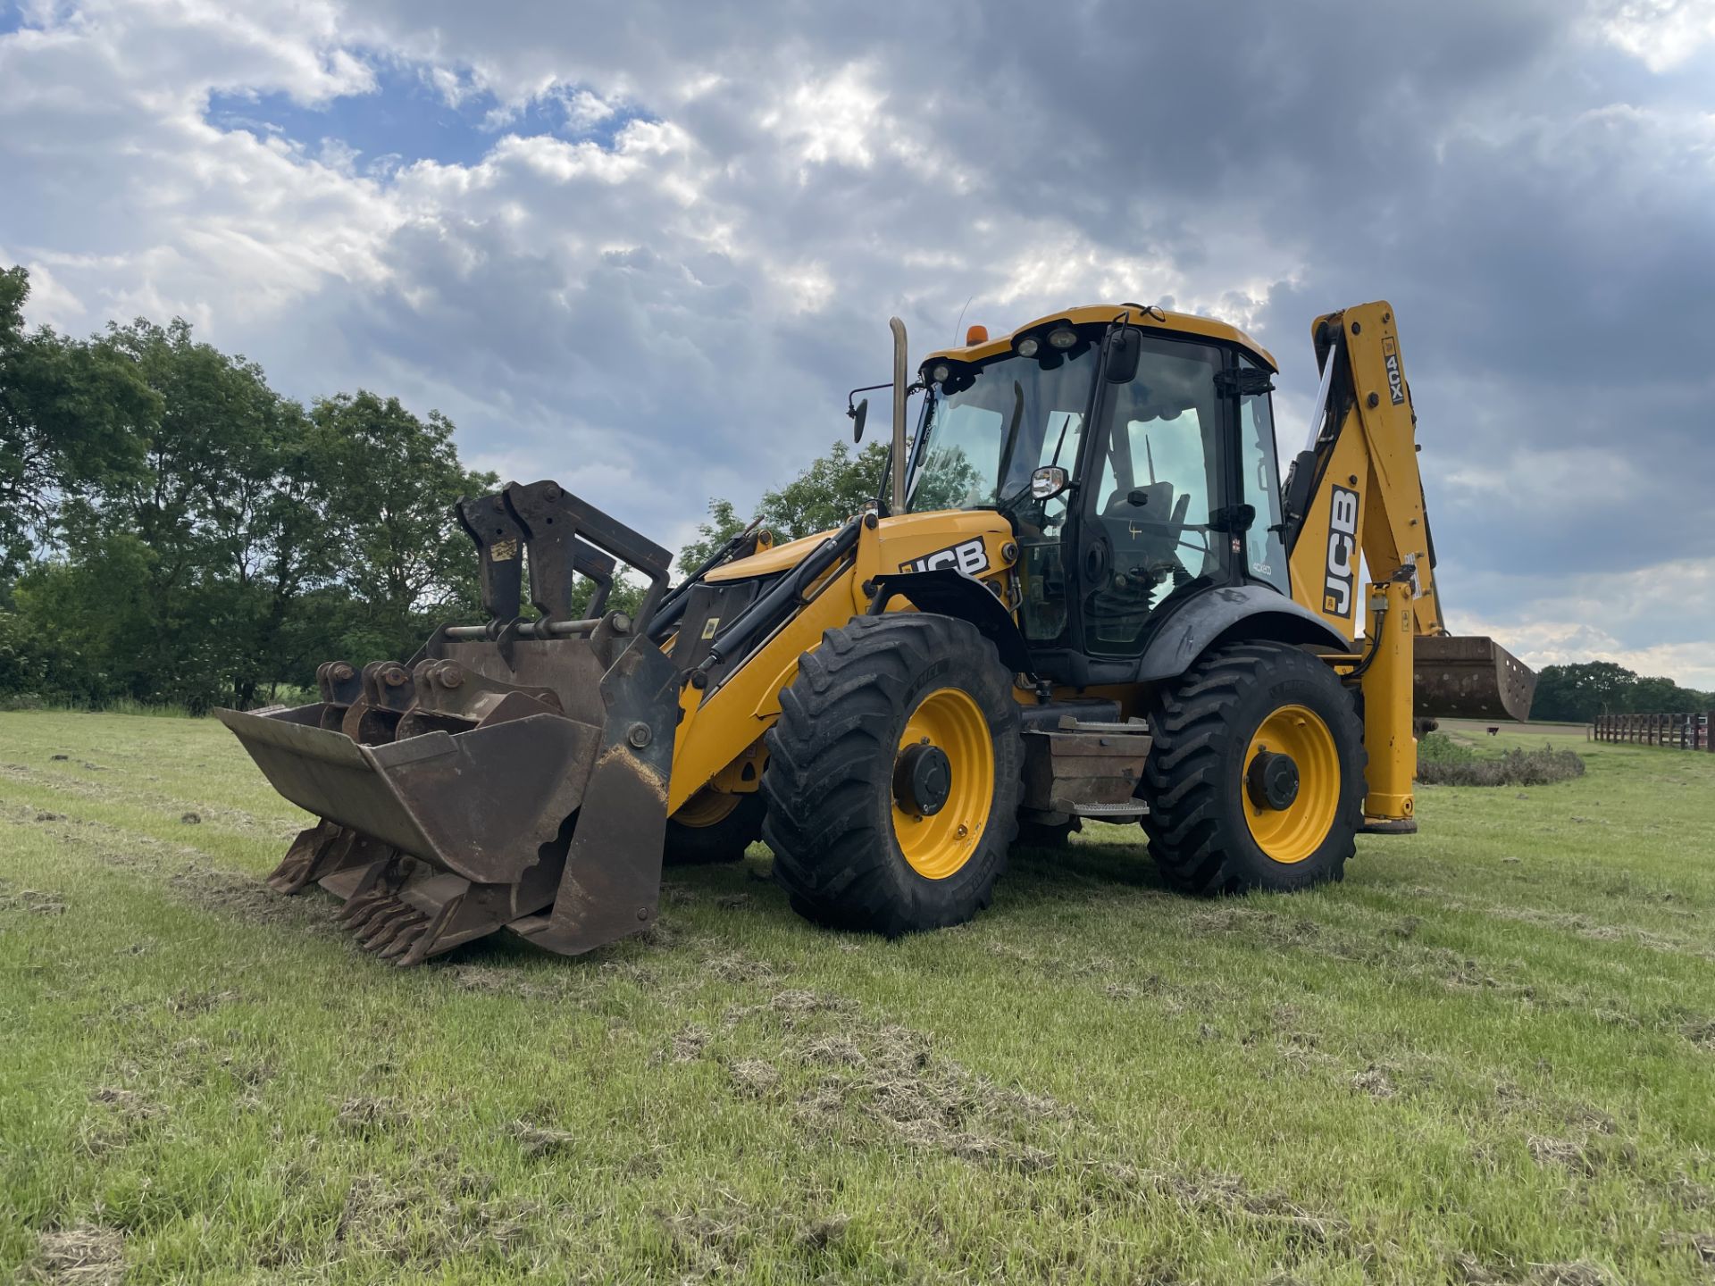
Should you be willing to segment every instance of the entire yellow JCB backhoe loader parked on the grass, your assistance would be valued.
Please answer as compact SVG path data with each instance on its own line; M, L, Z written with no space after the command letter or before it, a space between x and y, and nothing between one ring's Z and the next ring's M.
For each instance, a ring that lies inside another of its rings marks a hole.
M1415 828L1413 717L1528 713L1530 670L1444 631L1389 305L1315 321L1285 489L1276 365L1231 326L1080 307L914 379L894 333L888 477L839 530L753 523L669 588L667 550L511 484L458 508L485 624L221 712L321 818L271 883L400 964L497 929L588 952L655 919L664 859L756 838L799 912L885 934L984 907L1020 823L1140 821L1195 893L1302 888ZM635 617L602 610L616 562Z

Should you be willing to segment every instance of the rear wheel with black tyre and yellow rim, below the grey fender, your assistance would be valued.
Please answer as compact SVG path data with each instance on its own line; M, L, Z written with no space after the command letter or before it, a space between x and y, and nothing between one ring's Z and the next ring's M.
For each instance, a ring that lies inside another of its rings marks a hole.
M1156 696L1149 730L1139 794L1170 885L1238 893L1345 876L1367 756L1363 724L1326 662L1276 643L1216 648ZM1283 808L1250 785L1264 753L1293 761L1297 794Z

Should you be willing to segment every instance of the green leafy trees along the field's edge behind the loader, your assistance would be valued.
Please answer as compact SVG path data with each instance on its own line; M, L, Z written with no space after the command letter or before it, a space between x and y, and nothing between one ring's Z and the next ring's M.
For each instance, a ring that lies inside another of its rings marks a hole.
M453 506L499 478L460 461L444 415L367 389L304 406L178 319L27 329L27 273L0 269L0 700L245 706L314 684L321 660L405 658L437 622L480 619ZM835 442L756 514L777 540L837 526L885 463L885 442ZM743 526L713 499L681 571ZM1533 717L1712 706L1585 662L1542 670Z

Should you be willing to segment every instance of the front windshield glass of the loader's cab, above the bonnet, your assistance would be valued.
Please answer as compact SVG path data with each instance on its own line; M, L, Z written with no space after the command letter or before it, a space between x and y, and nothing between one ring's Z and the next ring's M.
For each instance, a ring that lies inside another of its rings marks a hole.
M907 513L993 509L1029 490L1043 465L1077 461L1096 345L1043 357L1005 353L930 389L918 427Z

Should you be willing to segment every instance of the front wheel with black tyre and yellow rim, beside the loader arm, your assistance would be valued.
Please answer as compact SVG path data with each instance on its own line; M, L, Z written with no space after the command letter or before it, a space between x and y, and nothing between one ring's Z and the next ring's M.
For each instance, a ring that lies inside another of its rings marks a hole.
M914 775L930 751L943 777ZM960 924L1007 862L1022 760L1012 676L976 626L854 617L799 658L768 732L775 880L833 928L894 938Z

